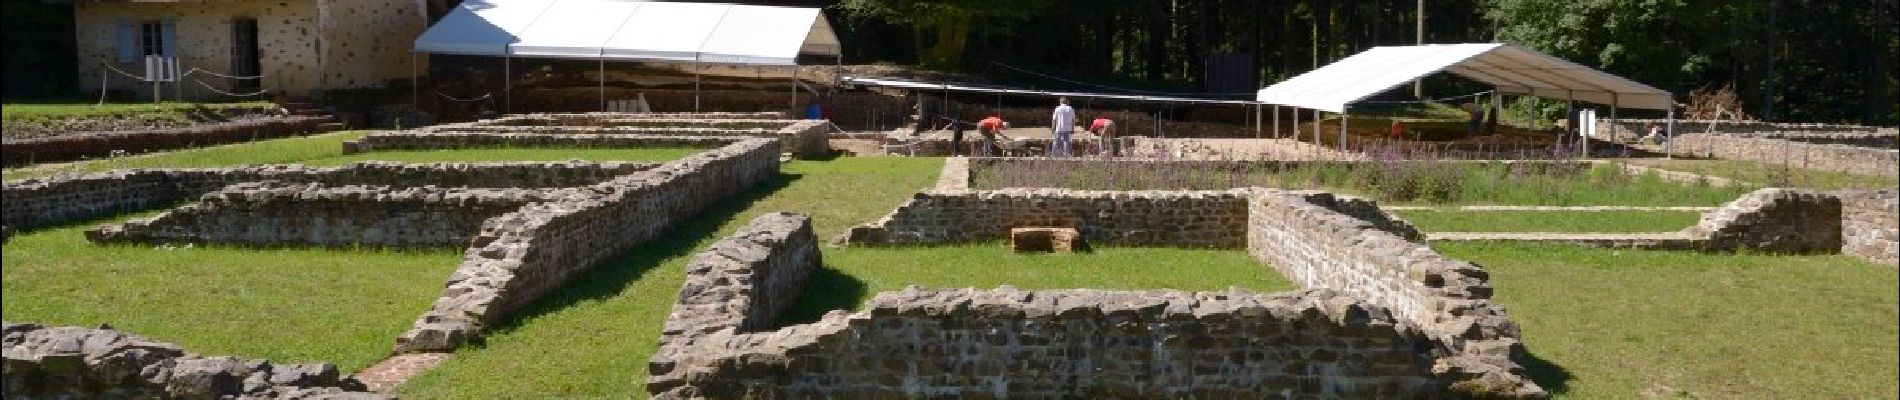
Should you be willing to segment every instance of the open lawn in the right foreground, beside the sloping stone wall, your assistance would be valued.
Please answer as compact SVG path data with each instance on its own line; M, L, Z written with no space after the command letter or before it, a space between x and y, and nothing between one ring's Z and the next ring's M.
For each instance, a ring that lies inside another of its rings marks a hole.
M1436 243L1484 265L1562 398L1894 398L1900 281L1852 256Z

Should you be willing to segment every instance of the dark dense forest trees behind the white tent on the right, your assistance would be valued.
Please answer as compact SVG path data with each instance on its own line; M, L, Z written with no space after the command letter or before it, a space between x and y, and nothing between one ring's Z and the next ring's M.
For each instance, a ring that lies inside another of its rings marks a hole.
M1239 61L1258 87L1374 45L1416 44L1419 4L1427 44L1522 44L1678 99L1733 85L1748 114L1775 121L1900 119L1894 0L844 0L840 8L851 21L842 25L846 44L857 47L849 55L863 61L929 61L1039 87L1077 85L1051 78L1066 76L1237 91L1246 85L1216 82L1231 74L1220 64ZM996 17L977 17L961 36L929 28L956 15ZM1427 85L1427 97L1478 89L1459 80Z

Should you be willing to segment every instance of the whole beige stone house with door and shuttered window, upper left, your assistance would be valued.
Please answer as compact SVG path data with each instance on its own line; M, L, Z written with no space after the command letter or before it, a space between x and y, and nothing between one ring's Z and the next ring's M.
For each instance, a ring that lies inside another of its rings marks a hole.
M200 68L160 97L236 99L258 93L310 97L325 89L382 87L408 80L410 47L441 0L70 0L80 89L101 85L139 99L152 83L116 74L146 74L146 55ZM110 66L110 68L108 68ZM207 89L209 87L209 89Z

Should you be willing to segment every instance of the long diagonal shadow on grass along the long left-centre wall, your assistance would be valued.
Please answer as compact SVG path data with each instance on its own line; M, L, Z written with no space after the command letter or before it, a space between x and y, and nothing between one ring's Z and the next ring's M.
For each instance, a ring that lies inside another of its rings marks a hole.
M739 212L743 212L745 209L750 209L752 203L770 197L771 193L790 186L798 178L802 176L781 173L777 176L768 178L766 182L760 182L758 186L752 186L747 191L726 197L724 201L714 203L705 210L699 210L697 216L680 222L678 226L667 229L665 233L659 233L659 237L646 243L638 243L625 254L602 265L595 265L587 271L581 271L580 275L574 275L559 290L536 300L528 307L517 311L505 322L494 326L490 334L511 332L515 328L521 328L521 324L526 320L534 320L536 317L566 309L568 305L574 303L619 296L619 292L625 290L627 284L640 281L640 277L646 277L648 271L659 267L667 260L705 250L699 248L699 243L709 235L716 235L720 226L739 216ZM671 298L678 290L678 284L667 286L667 290L673 290L665 294Z

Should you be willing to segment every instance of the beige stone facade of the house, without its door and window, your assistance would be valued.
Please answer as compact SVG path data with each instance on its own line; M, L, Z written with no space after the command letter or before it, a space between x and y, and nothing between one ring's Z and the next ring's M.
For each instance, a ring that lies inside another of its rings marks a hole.
M173 19L179 68L232 72L232 21L256 19L260 87L274 93L310 95L315 89L376 87L410 76L410 42L428 28L422 2L414 0L239 0L239 2L74 2L80 89L97 91L99 76L110 89L150 99L152 85L106 72L103 64L144 74L142 57L118 63L120 21ZM228 91L230 82L192 76ZM190 80L190 78L186 78ZM196 99L230 99L184 82ZM173 97L163 85L163 97Z

